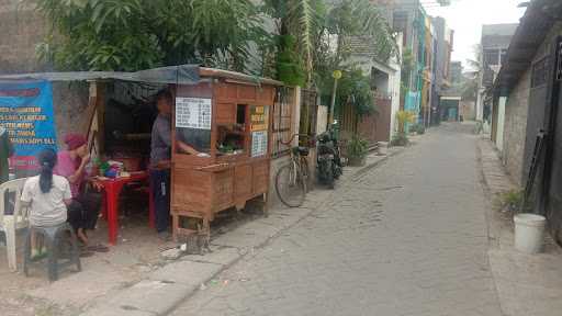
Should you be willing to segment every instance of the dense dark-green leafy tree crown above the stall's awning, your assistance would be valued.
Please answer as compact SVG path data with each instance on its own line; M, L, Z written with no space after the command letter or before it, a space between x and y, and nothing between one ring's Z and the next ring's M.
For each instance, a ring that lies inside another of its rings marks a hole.
M37 1L54 26L41 56L64 69L202 64L245 70L251 43L268 36L249 0Z

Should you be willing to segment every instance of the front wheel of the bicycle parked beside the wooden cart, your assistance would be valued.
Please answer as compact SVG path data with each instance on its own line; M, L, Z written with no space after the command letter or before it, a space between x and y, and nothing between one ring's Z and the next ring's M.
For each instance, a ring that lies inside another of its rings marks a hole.
M285 165L277 171L276 191L279 200L289 207L303 205L306 195L306 184L295 163Z

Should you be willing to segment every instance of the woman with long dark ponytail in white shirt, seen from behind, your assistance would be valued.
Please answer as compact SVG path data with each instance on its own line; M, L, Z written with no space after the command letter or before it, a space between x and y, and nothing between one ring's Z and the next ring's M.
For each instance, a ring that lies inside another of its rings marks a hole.
M70 183L65 177L53 174L53 169L57 165L57 154L54 150L41 151L38 162L41 173L25 181L21 201L31 206L29 217L31 227L58 226L67 221L67 206L72 201ZM37 239L32 228L32 258L46 255Z

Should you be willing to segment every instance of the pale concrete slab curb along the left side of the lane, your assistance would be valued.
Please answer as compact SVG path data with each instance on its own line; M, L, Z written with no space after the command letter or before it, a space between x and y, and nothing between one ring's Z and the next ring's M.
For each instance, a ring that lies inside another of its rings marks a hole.
M362 167L341 179L340 184L353 181L358 176L376 168L390 157L403 153L404 148L389 153L381 159ZM323 195L321 191L317 195ZM327 191L326 191L327 192ZM328 193L326 193L328 194ZM312 195L312 194L311 194ZM313 203L313 205L310 205ZM214 280L221 272L251 256L255 249L267 246L285 230L322 210L329 199L307 199L299 208L278 208L270 216L249 222L226 235L212 240L214 251L205 256L189 255L169 263L130 287L114 293L111 297L80 314L83 316L120 315L155 316L167 315L183 301ZM286 212L290 210L291 212ZM277 211L277 212L276 212Z

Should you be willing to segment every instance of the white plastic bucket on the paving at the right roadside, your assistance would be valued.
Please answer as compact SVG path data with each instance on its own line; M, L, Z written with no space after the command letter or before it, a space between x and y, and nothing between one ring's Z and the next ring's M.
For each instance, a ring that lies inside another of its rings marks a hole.
M542 251L547 218L537 214L517 214L515 222L515 249L526 253Z

